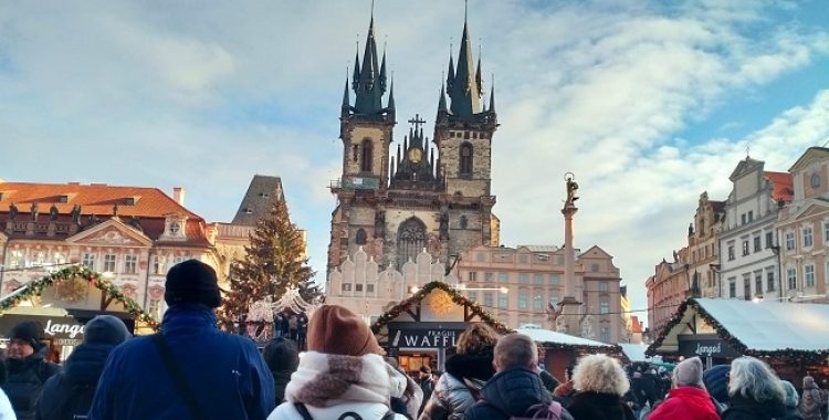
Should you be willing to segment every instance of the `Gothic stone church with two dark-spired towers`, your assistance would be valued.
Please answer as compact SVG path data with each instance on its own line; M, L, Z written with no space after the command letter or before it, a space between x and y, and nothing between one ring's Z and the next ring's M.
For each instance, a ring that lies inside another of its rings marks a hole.
M363 57L355 56L343 94L343 172L330 186L337 207L328 273L360 249L380 267L401 270L423 250L447 263L450 255L497 245L491 191L492 140L499 126L495 96L491 88L487 107L481 61L475 65L472 51L464 21L431 138L420 115L408 118L408 133L396 138L393 81L385 52L378 54L371 18Z

